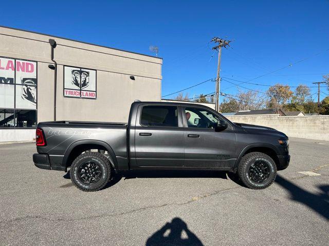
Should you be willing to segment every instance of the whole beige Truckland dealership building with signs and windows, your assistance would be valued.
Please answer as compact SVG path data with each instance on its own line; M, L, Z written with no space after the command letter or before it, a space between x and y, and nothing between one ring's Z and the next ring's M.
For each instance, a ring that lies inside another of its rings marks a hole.
M160 101L161 65L154 56L0 27L0 141L32 140L40 121L126 122L135 99Z

